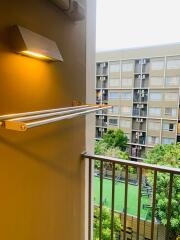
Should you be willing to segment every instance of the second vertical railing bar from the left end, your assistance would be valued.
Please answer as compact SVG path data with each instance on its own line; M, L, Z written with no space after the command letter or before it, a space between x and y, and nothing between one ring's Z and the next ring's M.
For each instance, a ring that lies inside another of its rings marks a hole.
M102 240L102 202L103 202L103 161L101 161L100 165L99 240Z

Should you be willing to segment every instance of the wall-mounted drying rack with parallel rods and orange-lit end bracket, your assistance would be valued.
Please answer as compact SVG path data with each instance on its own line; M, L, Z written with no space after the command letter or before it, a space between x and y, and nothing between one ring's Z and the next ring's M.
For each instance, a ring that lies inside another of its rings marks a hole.
M109 108L112 108L112 106L87 104L75 107L8 114L0 116L0 126L5 129L22 132L29 128L75 118L96 112L98 110L105 110Z

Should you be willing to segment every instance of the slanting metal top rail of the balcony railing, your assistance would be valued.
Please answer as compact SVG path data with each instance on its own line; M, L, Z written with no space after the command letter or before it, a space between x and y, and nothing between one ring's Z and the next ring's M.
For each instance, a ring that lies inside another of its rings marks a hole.
M149 164L149 163L142 163L142 162L133 162L130 160L124 160L124 159L118 159L113 157L107 157L107 156L101 156L101 155L93 155L88 153L82 153L82 156L89 159L104 161L104 162L112 162L112 163L119 163L121 165L127 165L131 167L140 167L143 169L153 170L153 171L159 171L159 172L166 172L166 173L173 173L180 175L180 168L172 168L172 167L166 167L166 166L159 166L155 164Z

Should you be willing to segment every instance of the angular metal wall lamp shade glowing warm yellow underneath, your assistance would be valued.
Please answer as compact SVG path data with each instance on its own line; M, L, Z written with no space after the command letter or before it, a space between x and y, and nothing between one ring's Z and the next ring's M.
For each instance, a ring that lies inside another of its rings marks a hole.
M63 61L54 41L18 25L12 27L11 33L15 52L46 61Z

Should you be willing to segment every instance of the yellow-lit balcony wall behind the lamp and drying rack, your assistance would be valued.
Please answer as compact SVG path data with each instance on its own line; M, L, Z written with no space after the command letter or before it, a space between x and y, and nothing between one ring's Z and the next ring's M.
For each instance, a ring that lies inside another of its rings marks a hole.
M58 44L64 63L14 54L8 28L24 26ZM85 21L48 0L1 1L0 114L85 102ZM0 239L83 239L84 119L28 130L0 129Z

